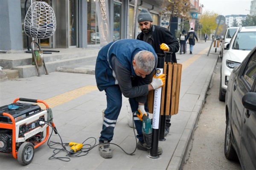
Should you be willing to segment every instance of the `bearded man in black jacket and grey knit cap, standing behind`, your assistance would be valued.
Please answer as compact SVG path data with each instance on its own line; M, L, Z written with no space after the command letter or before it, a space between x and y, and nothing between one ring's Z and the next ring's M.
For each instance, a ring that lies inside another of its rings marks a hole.
M150 13L145 9L141 10L137 19L142 31L137 36L137 40L142 40L152 45L158 56L164 56L164 51L172 52L172 62L177 63L175 53L179 51L180 45L172 33L164 27L153 25L153 19ZM171 116L166 116L164 136L167 136L169 133L170 126Z

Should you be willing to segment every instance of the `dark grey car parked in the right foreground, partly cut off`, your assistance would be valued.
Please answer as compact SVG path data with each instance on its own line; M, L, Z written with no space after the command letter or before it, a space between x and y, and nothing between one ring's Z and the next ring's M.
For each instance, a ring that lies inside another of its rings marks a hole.
M256 170L256 47L234 68L226 94L224 154Z

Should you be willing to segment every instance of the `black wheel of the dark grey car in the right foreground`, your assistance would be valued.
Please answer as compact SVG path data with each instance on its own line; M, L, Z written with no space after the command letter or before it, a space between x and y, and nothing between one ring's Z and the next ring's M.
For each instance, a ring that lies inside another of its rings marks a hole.
M226 132L225 132L225 144L224 144L224 154L227 159L237 160L237 154L231 144L231 126L229 118L227 118Z

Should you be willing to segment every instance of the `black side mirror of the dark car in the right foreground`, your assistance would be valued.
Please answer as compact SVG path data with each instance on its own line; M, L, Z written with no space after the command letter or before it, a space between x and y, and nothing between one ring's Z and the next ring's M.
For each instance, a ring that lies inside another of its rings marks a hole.
M244 108L250 111L256 111L256 93L255 92L248 92L242 98L242 104Z

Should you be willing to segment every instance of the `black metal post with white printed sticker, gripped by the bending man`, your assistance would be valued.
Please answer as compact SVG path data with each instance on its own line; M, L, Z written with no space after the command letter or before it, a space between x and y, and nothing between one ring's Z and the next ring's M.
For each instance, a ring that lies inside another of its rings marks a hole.
M164 57L158 57L156 74L160 75L161 70L163 73ZM159 158L157 155L158 139L159 139L159 123L160 123L160 105L156 103L156 93L157 98L161 100L162 90L156 89L154 92L154 108L153 108L153 122L152 122L152 145L149 151L150 158Z

